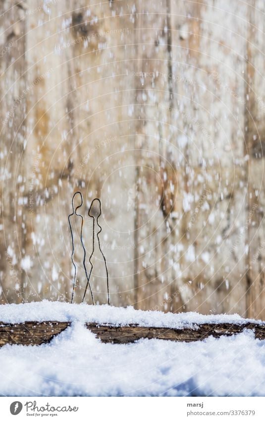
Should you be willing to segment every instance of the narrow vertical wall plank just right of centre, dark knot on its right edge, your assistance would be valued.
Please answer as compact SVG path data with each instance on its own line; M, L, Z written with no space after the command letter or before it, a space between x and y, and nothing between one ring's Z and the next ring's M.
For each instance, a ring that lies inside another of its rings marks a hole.
M168 217L176 210L178 185L170 152L174 149L171 144L174 128L167 114L171 104L167 1L138 0L135 5L138 44L135 307L169 310L170 306L164 303L172 282Z

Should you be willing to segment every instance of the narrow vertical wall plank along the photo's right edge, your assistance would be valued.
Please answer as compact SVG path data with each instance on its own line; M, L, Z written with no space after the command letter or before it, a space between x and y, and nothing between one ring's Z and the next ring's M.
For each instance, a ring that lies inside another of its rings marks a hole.
M249 1L247 34L245 149L249 158L247 317L265 317L265 61L263 2Z

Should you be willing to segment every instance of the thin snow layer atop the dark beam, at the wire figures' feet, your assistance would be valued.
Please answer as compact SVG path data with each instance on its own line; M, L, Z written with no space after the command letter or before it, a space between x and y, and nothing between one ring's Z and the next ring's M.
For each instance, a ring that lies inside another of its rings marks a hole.
M244 319L238 314L203 315L199 313L163 313L162 311L142 311L133 307L113 307L108 305L69 304L59 301L40 301L25 304L0 305L0 321L20 323L30 320L56 320L111 323L126 325L181 328L200 323L257 322Z

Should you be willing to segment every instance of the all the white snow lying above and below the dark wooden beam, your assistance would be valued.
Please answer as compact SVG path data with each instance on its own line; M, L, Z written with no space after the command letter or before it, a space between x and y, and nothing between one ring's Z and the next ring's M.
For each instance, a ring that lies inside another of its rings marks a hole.
M0 348L1 396L265 396L265 341L251 330L200 342L104 344L84 322L192 327L237 314L163 313L44 300L0 305L0 320L71 321L51 343ZM261 322L262 323L262 322Z

